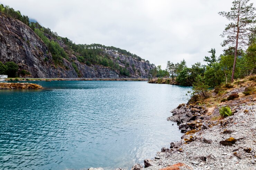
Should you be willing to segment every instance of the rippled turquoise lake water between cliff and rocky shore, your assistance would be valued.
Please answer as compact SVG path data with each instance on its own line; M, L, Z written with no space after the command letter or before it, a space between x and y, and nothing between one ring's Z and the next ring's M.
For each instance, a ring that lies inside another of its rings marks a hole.
M180 140L166 118L191 90L137 81L33 83L47 89L0 91L0 169L144 165Z

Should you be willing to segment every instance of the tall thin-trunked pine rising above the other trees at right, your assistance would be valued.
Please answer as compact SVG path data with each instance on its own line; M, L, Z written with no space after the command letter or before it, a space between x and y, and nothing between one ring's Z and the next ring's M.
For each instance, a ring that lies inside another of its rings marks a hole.
M235 0L230 12L219 12L223 17L226 17L229 24L226 25L225 30L221 34L226 37L226 40L221 44L224 46L235 46L234 64L232 69L231 82L234 81L237 49L248 45L248 36L255 31L256 16L253 3L247 4L250 0Z

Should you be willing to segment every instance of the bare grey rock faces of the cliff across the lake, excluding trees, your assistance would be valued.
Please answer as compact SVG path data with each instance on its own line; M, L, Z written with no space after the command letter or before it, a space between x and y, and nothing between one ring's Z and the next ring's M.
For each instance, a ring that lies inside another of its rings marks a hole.
M13 61L19 65L19 70L27 70L30 77L34 78L123 78L127 77L118 70L91 64L90 66L77 60L76 54L60 41L60 44L68 55L63 58L63 65L54 64L52 54L48 52L46 44L30 29L19 20L7 17L0 12L0 61L3 63ZM115 51L103 50L109 58L126 68L131 78L147 78L152 65L144 60L137 61L131 56L126 56ZM75 63L78 70L72 66Z

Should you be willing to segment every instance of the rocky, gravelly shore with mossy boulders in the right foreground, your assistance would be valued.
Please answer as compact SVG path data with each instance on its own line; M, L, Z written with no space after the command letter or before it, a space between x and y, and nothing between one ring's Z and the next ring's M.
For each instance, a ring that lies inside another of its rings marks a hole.
M233 87L212 90L204 102L180 104L167 118L179 124L184 135L170 148L162 148L155 159L144 160L147 170L185 169L256 169L256 94L246 95L246 89L255 88L252 81L242 80ZM235 86L235 87L234 87ZM225 101L226 97L239 97ZM221 102L222 101L222 102ZM232 116L221 118L219 108L229 106ZM139 166L142 167L142 166ZM132 170L138 170L138 164Z

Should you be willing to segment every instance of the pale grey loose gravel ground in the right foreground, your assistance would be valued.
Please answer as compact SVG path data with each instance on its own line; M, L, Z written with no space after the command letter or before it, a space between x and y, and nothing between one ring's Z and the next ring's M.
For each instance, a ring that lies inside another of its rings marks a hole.
M256 105L238 106L236 110L234 116L215 122L215 126L189 134L193 141L186 144L182 140L183 144L179 148L182 152L158 152L161 159L154 159L154 165L146 169L158 170L182 162L196 170L256 170ZM225 121L229 123L222 124ZM223 133L224 130L230 130L230 133ZM237 139L235 144L220 144L220 141L229 137ZM205 142L210 140L212 143Z

